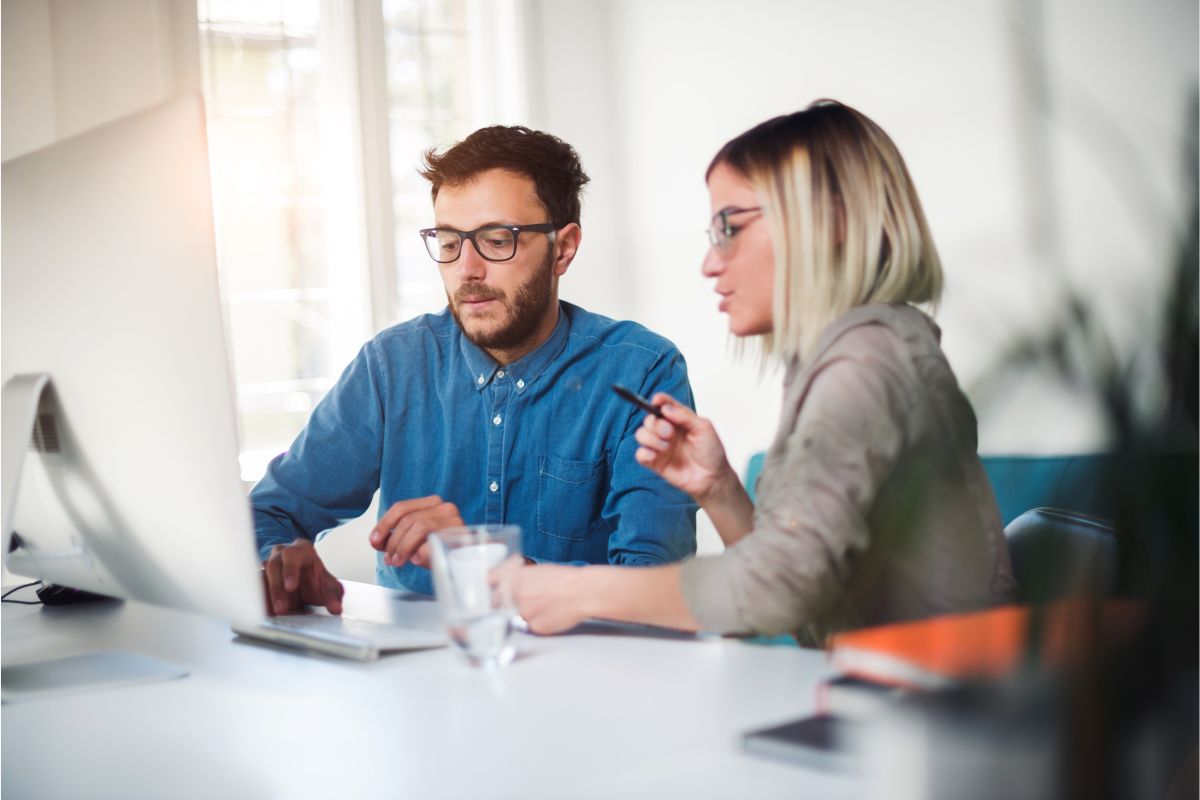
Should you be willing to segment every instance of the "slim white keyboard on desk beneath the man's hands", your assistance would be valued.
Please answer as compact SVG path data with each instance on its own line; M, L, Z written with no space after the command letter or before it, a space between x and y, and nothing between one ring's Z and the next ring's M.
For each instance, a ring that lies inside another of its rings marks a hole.
M324 609L235 624L241 636L355 661L384 652L440 648L450 643L437 602L424 595L343 581L340 616Z

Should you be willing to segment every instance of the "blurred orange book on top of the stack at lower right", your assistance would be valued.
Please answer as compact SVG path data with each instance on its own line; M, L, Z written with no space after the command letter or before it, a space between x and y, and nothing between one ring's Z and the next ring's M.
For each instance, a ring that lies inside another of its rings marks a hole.
M829 658L846 674L911 688L1002 678L1030 648L1031 610L1001 606L838 633ZM1039 661L1052 667L1128 639L1145 615L1142 604L1129 601L1066 600L1043 610Z

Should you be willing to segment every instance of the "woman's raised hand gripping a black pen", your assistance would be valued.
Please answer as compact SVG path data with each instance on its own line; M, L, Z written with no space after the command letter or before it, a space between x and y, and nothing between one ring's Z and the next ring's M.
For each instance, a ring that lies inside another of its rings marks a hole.
M650 402L666 420L648 414L637 429L635 458L704 505L730 480L738 482L713 423L670 395L659 392Z

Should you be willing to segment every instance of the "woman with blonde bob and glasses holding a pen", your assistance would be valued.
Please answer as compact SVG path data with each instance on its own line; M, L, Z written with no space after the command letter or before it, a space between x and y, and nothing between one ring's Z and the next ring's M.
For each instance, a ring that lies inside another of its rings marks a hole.
M730 331L785 367L755 507L712 423L652 398L637 461L726 545L662 567L535 566L517 603L552 633L588 616L720 633L835 631L1009 601L976 419L938 344L942 271L888 136L818 101L727 143L707 173L703 264Z

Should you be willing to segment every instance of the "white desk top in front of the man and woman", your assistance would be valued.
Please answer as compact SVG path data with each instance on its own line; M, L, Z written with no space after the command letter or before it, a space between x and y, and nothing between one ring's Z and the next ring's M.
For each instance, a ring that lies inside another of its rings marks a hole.
M396 602L348 584L347 610ZM22 593L22 596L24 593ZM6 798L852 796L742 752L814 708L824 657L728 639L527 638L498 673L450 649L360 664L142 603L4 606L4 662L130 650L182 680L2 706Z

